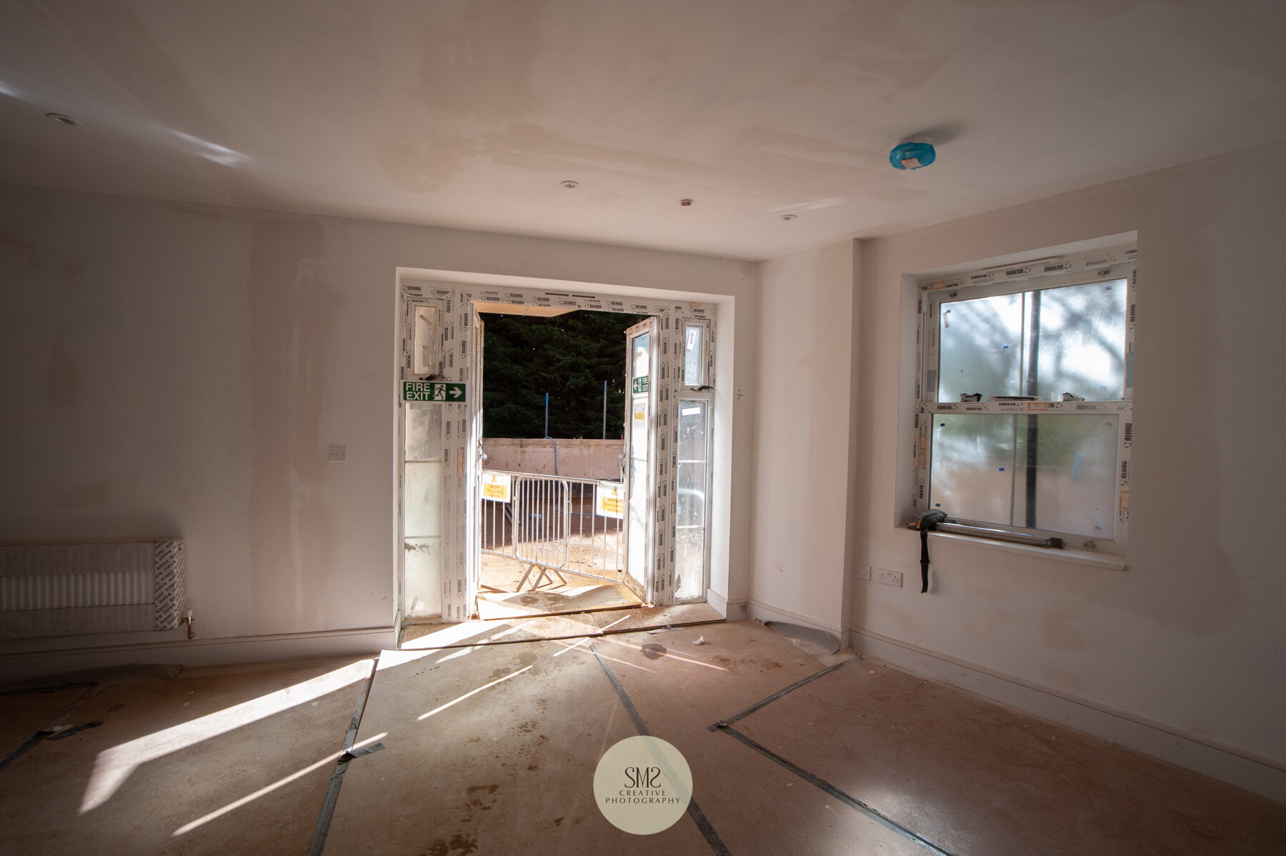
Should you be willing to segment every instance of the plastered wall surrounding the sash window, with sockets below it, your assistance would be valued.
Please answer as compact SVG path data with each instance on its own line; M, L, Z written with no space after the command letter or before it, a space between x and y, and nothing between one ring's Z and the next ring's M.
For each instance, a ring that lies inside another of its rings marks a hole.
M1286 761L1283 165L1274 144L863 242L854 564L918 577L894 526L904 274L1137 230L1136 442L1127 571L943 540L931 594L854 580L853 627Z

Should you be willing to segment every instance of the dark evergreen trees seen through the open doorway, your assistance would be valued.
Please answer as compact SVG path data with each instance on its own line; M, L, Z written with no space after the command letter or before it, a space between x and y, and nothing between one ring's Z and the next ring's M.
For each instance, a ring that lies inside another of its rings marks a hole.
M620 440L625 413L625 330L646 315L576 311L554 317L484 314L482 431L487 437Z

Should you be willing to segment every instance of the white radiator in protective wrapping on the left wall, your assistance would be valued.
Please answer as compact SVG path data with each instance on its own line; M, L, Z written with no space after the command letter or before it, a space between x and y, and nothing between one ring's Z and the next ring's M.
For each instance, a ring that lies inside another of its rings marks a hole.
M181 539L0 545L0 639L175 630Z

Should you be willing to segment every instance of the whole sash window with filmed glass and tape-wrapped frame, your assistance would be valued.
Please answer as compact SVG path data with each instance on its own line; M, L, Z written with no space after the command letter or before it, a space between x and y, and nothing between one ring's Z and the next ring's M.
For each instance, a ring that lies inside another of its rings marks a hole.
M1133 249L921 284L916 510L1123 548Z

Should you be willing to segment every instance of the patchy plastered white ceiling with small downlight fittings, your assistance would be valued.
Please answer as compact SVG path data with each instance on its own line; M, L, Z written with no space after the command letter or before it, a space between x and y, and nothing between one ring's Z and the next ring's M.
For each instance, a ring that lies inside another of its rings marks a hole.
M1286 138L1283 42L1282 0L5 0L0 181L759 260Z

